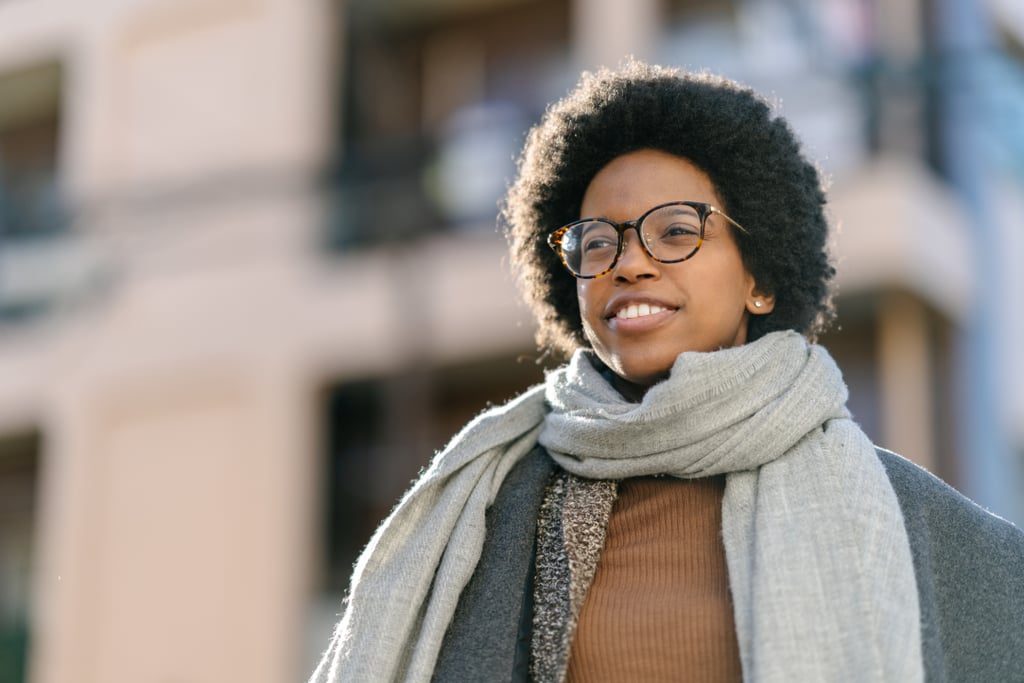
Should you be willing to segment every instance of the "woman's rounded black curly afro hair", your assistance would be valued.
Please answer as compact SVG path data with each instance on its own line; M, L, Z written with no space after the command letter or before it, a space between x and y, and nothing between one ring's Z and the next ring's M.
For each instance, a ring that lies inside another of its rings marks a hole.
M743 263L761 291L775 295L770 313L751 316L749 341L775 330L814 339L827 327L835 268L825 252L825 196L788 124L732 81L633 60L584 74L548 109L527 136L505 200L512 266L542 348L568 354L589 346L575 281L548 247L548 233L580 217L598 171L643 148L695 164L722 210L749 230L734 232Z

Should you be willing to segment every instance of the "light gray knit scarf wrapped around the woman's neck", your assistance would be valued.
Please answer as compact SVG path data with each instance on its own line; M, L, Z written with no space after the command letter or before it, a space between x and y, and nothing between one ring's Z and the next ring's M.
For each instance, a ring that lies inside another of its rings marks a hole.
M484 515L539 441L586 478L725 473L722 524L744 680L922 681L895 493L827 352L792 332L683 353L629 402L583 352L471 422L377 529L310 683L429 681Z

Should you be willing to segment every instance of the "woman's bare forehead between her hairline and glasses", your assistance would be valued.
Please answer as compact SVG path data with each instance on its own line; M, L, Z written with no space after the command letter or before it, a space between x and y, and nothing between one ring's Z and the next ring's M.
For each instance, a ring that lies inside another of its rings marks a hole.
M708 174L682 157L640 150L616 157L590 181L581 216L629 220L652 206L689 200L721 207Z

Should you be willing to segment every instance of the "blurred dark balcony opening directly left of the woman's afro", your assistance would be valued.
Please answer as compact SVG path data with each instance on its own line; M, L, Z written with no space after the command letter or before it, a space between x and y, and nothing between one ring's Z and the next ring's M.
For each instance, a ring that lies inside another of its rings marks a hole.
M493 233L524 132L564 90L566 0L400 4L348 5L332 246Z

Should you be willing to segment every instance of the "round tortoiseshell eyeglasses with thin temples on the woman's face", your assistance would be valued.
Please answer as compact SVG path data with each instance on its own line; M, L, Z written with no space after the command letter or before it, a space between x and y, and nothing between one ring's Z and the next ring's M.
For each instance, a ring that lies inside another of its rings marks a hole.
M600 278L615 267L623 254L626 230L634 228L647 256L659 263L679 263L692 258L700 249L705 224L713 213L750 234L742 225L710 204L669 202L624 223L607 218L574 220L549 234L548 246L577 278Z

